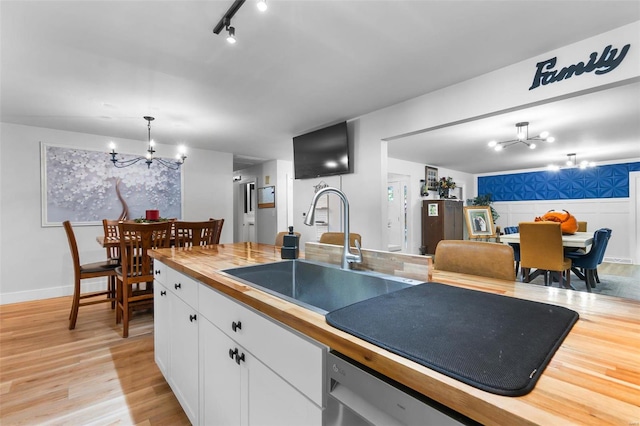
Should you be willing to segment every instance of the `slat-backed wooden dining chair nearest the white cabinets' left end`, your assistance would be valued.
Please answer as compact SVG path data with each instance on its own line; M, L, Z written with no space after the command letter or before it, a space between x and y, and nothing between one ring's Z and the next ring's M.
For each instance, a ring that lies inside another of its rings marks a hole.
M149 250L169 247L171 223L121 222L121 266L116 269L116 324L129 337L129 321L135 309L153 307L153 259Z

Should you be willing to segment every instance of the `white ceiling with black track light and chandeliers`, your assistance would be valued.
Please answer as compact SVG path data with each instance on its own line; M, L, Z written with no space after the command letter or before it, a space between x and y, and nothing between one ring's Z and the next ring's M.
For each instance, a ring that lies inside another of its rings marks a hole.
M104 135L106 150L146 140L152 115L157 142L230 152L238 169L291 160L299 134L640 19L635 0L269 0L264 14L248 0L228 45L212 29L231 3L3 0L1 120ZM638 157L639 99L636 83L394 139L389 153L471 173L569 152ZM557 142L527 156L487 150L518 121Z

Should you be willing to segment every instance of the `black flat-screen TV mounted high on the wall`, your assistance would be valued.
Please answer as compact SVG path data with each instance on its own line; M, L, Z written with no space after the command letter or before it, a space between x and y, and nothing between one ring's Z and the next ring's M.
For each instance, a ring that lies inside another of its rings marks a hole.
M294 137L293 168L296 179L353 173L347 123Z

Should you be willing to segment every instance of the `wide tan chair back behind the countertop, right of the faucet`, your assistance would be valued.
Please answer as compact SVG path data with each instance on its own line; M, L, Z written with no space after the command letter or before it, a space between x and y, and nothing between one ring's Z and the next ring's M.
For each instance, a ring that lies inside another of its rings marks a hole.
M515 281L513 248L484 241L441 240L436 246L434 269Z

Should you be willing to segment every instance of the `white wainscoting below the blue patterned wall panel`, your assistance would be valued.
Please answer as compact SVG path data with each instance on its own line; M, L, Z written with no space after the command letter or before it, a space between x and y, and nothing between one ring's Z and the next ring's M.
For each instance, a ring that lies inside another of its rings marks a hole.
M501 228L533 221L536 216L542 216L549 210L567 210L577 220L587 222L588 232L599 228L612 230L605 262L631 264L636 258L635 251L638 248L634 238L635 230L629 229L635 210L629 198L502 201L493 203L493 207L500 214L496 225Z

